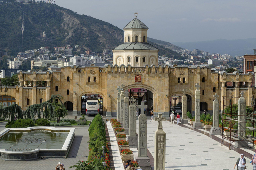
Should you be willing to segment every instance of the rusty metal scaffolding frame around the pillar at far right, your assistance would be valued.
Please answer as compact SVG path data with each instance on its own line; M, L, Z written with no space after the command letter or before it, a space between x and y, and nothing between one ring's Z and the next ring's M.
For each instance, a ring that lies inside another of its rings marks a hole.
M224 105L224 101L226 99L230 98L230 113L225 113L224 112L224 107L227 107L226 105ZM252 113L245 113L245 122L243 121L238 121L238 117L241 115L238 115L238 113L233 113L234 109L232 110L232 105L233 105L233 98L237 99L240 98L240 96L223 96L223 105L222 105L222 133L221 133L221 145L223 144L223 141L225 139L227 139L229 141L229 149L230 146L233 142L251 142L253 143L254 146L254 141L256 140L256 137L254 137L254 133L256 132L256 128L254 126L254 124L256 123L256 114L254 113L255 110L255 100L254 100L254 96L252 97L244 97L245 99L247 98L248 100L251 99L251 107L252 108ZM246 108L245 108L246 109ZM245 110L246 112L246 110ZM226 119L224 119L224 116L226 116ZM224 127L223 124L225 124L225 122L228 122L228 127ZM245 129L239 129L238 128L234 128L234 125L238 124L238 123L251 123L252 127L245 127ZM229 133L226 135L224 135L225 130L228 131ZM243 131L245 133L245 138L238 138L238 132ZM253 135L246 135L246 132L252 132ZM235 133L234 133L235 132ZM234 133L234 134L233 134Z

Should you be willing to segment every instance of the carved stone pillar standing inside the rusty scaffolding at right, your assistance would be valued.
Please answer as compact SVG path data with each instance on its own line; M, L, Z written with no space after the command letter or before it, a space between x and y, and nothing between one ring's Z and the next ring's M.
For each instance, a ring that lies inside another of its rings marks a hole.
M241 97L238 99L238 139L245 139L245 131L239 131L242 129L245 129L246 125L246 120L245 120L245 115L246 115L246 101L244 98L244 92L241 92ZM248 142L247 141L235 141L235 147L247 147Z

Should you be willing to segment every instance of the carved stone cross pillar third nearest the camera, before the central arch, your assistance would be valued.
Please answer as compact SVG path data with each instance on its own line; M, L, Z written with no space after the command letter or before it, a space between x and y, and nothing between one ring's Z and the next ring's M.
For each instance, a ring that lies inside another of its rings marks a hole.
M136 102L136 99L132 96L132 98L129 100L130 106L129 106L129 135L127 135L128 141L129 141L129 147L130 148L138 148L138 136L136 135L136 105L134 104Z

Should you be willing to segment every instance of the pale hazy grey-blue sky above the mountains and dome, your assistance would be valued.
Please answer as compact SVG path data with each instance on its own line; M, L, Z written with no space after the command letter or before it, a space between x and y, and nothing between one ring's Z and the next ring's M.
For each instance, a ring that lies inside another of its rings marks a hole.
M148 37L167 42L256 38L255 0L55 0L120 29L135 18Z

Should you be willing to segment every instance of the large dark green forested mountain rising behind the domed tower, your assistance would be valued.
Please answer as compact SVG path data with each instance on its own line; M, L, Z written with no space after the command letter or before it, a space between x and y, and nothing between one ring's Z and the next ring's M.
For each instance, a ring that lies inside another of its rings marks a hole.
M10 1L0 2L0 51L8 51L9 55L67 44L102 52L103 48L113 49L124 42L123 30L110 23L42 1L27 5ZM44 31L47 41L40 39ZM179 56L169 48L154 45L162 55Z

